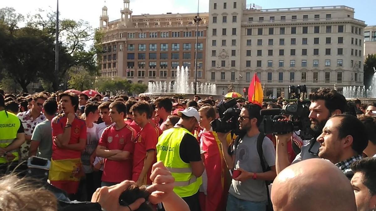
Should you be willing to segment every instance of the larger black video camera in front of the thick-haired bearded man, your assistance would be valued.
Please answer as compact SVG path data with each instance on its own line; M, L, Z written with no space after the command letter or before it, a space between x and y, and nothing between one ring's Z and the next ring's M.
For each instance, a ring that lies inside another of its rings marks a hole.
M265 134L286 134L300 130L300 137L303 140L312 139L311 121L309 120L309 108L307 105L288 104L285 109L262 109L260 115L264 118ZM290 121L278 121L271 119L274 115L291 115Z

